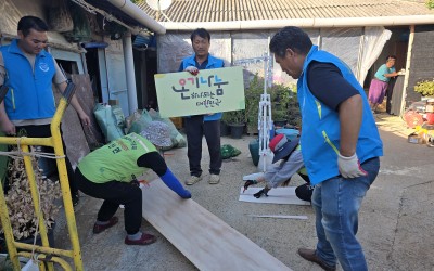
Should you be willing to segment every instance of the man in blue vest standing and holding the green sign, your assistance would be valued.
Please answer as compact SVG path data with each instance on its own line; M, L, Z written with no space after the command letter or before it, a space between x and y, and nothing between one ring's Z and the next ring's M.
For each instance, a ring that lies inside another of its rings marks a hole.
M200 69L220 68L225 66L222 60L209 54L210 35L204 28L197 28L191 34L191 44L194 54L182 60L179 72L186 70L197 75ZM209 180L217 184L220 181L220 119L221 113L195 115L184 118L187 134L187 156L190 165L190 179L186 184L192 185L202 180L202 138L205 136L209 151Z

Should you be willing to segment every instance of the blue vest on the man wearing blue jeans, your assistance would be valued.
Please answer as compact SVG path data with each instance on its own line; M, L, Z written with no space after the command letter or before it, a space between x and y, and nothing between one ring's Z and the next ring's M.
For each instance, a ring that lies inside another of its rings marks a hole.
M383 143L375 121L369 108L363 89L358 83L349 67L336 56L319 51L314 46L306 56L302 77L297 82L297 98L302 111L301 144L303 159L312 185L339 176L337 154L340 150L339 113L318 101L307 85L307 67L311 61L332 63L343 77L355 87L363 101L362 121L357 141L356 153L360 163L383 155Z

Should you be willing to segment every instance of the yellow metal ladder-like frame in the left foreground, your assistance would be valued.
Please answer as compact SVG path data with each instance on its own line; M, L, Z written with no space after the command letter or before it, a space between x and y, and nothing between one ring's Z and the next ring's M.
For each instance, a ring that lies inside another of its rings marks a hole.
M15 271L21 270L18 257L25 257L30 259L33 256L33 251L38 254L39 260L39 270L54 270L53 263L59 263L64 270L73 270L71 264L63 259L62 257L68 257L74 260L75 270L81 271L82 269L82 260L81 260L81 250L78 242L77 234L77 225L74 215L73 202L71 197L71 191L68 185L68 178L65 165L65 154L63 152L62 138L60 132L60 125L63 114L71 101L71 98L74 95L75 86L69 82L68 87L63 93L59 102L59 106L55 111L51 122L51 138L10 138L10 137L0 137L0 144L7 145L20 145L24 155L24 165L28 178L28 183L30 185L31 198L35 206L35 214L37 215L39 221L39 231L42 241L42 245L28 245L24 243L18 243L14 240L12 233L11 221L9 219L9 211L7 207L7 203L4 199L4 192L2 185L0 185L0 219L1 224L4 230L4 237L8 245L8 253L12 261L13 269ZM0 93L0 103L2 102L5 93ZM67 229L69 233L69 238L72 243L72 250L64 250L50 247L47 234L47 228L43 223L43 216L39 208L39 196L38 189L35 181L35 173L31 165L31 159L29 155L25 155L29 153L29 145L41 145L41 146L52 146L54 147L54 154L56 157L56 165L59 171L59 180L61 184L62 195L63 195L63 205L65 208ZM20 249L20 251L17 250Z

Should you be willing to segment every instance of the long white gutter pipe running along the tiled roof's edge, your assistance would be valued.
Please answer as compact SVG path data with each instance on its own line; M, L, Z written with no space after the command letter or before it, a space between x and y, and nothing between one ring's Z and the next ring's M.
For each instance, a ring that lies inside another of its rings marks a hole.
M272 29L284 26L298 27L355 27L355 26L396 26L434 24L434 15L382 16L382 17L336 17L336 18L288 18L232 22L161 22L167 30L191 30L197 25L208 30Z

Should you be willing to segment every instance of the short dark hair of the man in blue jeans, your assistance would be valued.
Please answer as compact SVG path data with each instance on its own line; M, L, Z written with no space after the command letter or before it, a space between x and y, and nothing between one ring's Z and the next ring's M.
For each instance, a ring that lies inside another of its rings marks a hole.
M284 57L289 48L296 53L307 55L311 47L312 42L309 36L302 28L286 26L275 34L269 48L271 53Z

